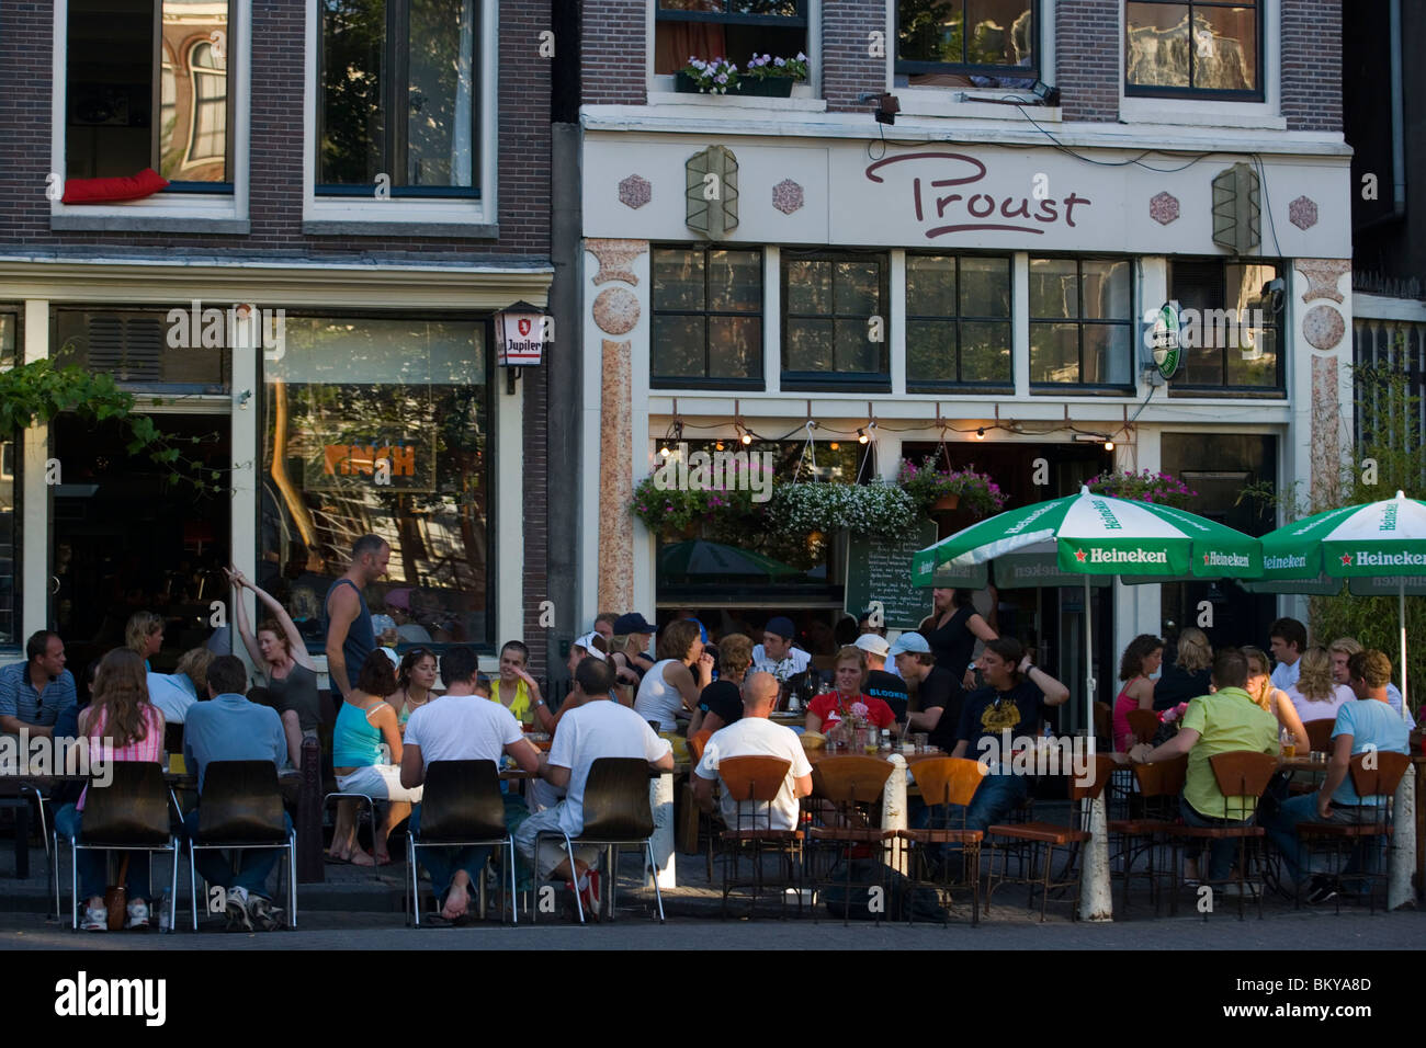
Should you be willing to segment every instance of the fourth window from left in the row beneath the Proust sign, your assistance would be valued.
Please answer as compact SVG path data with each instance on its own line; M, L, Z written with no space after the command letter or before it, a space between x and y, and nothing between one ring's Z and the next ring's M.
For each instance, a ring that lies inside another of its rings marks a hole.
M1128 386L1134 308L1127 260L1030 260L1030 382Z

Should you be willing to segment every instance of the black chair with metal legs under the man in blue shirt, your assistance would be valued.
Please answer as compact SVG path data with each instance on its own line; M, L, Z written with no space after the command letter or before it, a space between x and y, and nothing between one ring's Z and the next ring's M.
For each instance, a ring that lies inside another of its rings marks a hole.
M198 871L194 856L202 850L287 851L287 907L289 928L297 927L297 833L287 828L277 764L271 760L215 760L204 770L198 800L198 833L188 841L188 893L193 930L198 930ZM279 875L281 883L281 875Z

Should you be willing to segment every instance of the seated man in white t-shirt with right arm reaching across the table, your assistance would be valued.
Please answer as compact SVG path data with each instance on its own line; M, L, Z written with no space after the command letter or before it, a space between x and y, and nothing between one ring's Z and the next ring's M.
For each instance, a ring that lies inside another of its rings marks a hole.
M540 777L565 788L565 800L526 818L515 833L515 844L535 864L540 880L563 878L570 893L579 893L586 915L593 917L599 911L599 871L592 867L602 850L578 847L570 870L569 856L556 841L546 840L536 856L536 836L540 831L563 831L570 837L583 833L585 783L597 759L639 757L659 771L672 771L673 747L637 713L610 702L615 674L607 662L585 659L575 670L575 682L583 693L583 704L560 717L553 744L539 761Z

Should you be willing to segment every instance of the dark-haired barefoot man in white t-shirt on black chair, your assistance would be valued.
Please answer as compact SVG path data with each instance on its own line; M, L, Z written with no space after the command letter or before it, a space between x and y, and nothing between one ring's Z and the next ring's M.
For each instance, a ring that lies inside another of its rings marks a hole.
M426 780L426 766L438 760L489 760L496 767L511 754L525 771L539 767L539 750L526 739L520 723L505 706L475 694L475 650L465 644L441 656L441 679L446 693L418 707L406 721L402 739L401 784L406 788ZM505 824L523 813L515 794L505 794ZM421 828L421 806L411 813L412 833ZM469 907L471 884L481 875L489 847L422 848L421 861L431 873L431 887L445 898L441 915L448 921L463 920Z

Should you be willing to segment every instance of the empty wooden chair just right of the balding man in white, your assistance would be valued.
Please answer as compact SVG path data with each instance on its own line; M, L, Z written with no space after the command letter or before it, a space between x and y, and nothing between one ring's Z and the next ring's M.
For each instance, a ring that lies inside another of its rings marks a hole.
M823 801L824 824L814 827L807 836L814 846L824 846L819 851L830 854L833 865L837 856L846 857L846 877L841 884L847 893L847 910L843 914L843 924L850 920L853 887L867 888L868 897L871 888L881 888L881 897L886 898L886 885L883 884L886 878L881 875L886 865L876 851L886 841L894 840L896 831L874 826L877 821L874 816L878 814L874 807L881 801L881 791L887 779L891 777L891 761L887 760L847 754L824 757L811 769L811 796ZM851 850L857 844L873 848L873 858L877 860L878 870L874 881L854 883L851 880ZM816 915L817 891L823 884L834 884L836 881L821 881L817 877L816 861L811 865L811 903ZM831 865L829 865L829 873L830 870ZM877 923L880 924L880 917Z

